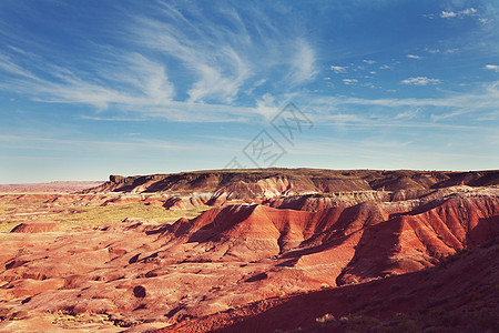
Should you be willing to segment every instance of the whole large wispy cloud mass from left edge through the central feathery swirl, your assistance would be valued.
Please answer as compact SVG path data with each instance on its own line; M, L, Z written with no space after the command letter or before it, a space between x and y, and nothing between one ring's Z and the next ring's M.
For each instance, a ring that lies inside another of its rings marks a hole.
M265 99L254 91L271 75L285 94L318 73L316 51L304 34L276 29L255 7L220 7L218 14L231 22L225 26L191 7L181 11L160 3L154 11L154 18L130 13L125 33L119 34L128 47L98 47L100 53L84 65L55 65L18 47L0 52L0 89L35 101L123 112L104 119L247 121L261 114ZM238 107L242 94L255 107Z

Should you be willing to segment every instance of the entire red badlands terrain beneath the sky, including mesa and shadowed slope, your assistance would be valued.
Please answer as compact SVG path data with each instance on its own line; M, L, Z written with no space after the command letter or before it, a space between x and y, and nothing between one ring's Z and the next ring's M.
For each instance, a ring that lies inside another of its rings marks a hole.
M499 326L499 171L218 170L92 185L0 193L1 332Z

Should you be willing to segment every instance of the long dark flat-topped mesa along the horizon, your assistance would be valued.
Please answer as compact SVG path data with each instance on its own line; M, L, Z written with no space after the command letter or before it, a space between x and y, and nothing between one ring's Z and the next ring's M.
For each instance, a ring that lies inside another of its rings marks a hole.
M304 193L356 191L413 191L452 185L486 186L499 184L499 171L411 171L411 170L322 170L246 169L212 170L173 174L122 176L83 193L226 193L228 199L275 198Z

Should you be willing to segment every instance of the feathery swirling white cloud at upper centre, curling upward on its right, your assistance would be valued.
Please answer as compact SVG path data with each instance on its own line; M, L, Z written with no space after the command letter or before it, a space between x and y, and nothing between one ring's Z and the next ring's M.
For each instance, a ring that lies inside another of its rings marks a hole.
M244 9L244 20L234 8L220 9L218 14L231 26L189 7L181 12L164 6L162 19L133 18L132 39L177 59L197 77L187 91L191 102L231 103L243 87L267 78L283 64L283 88L307 83L317 74L315 50L302 33L293 29L284 33L265 12L251 6Z

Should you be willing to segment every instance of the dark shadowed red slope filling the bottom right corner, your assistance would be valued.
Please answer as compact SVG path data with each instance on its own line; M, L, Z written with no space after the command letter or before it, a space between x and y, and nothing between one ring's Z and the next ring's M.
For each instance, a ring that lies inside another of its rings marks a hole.
M255 302L159 332L495 332L499 240L434 269Z

